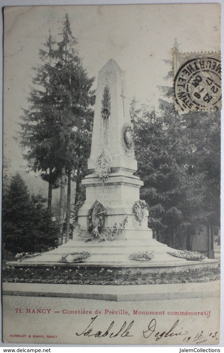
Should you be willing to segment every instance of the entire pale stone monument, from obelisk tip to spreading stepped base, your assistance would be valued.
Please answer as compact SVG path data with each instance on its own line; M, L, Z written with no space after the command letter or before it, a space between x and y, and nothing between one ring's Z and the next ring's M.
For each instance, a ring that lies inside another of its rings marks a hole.
M139 199L143 182L135 175L137 161L125 96L124 72L110 59L98 74L96 104L92 132L90 174L82 184L86 200L78 212L73 239L41 256L10 262L11 266L87 266L141 268L149 271L180 270L181 268L214 265L216 260L186 261L173 257L174 251L153 239L148 228L148 211ZM70 253L88 251L91 256L83 263L62 263ZM151 261L136 261L130 255L153 252Z

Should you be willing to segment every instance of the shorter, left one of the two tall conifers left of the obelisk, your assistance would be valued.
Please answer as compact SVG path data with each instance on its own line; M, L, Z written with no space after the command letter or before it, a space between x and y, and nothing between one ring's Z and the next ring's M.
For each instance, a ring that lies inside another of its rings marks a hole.
M29 109L24 109L20 124L20 145L30 170L38 172L49 183L48 208L51 209L52 188L58 187L59 166L57 164L57 108L58 87L55 68L55 41L49 35L45 50L39 50L42 64L33 68L36 77L31 88Z

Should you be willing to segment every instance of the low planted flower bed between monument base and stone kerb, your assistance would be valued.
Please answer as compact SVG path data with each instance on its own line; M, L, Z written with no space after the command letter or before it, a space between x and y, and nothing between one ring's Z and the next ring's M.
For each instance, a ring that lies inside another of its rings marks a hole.
M126 273L113 269L98 268L10 268L2 269L2 282L8 283L52 283L78 285L149 285L170 283L210 282L220 279L220 267L187 269L179 272Z

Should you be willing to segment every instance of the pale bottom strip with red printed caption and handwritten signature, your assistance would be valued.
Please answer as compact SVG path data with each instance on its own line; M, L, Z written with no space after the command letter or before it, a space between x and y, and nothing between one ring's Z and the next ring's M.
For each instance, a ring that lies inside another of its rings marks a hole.
M3 336L10 343L218 344L219 299L117 302L4 295Z

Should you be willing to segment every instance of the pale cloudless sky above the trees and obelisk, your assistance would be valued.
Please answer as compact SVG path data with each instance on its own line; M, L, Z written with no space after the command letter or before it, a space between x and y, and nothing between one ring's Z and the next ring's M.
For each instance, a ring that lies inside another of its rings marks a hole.
M4 12L4 141L5 154L13 170L23 160L13 139L27 108L27 97L40 64L38 52L51 34L59 40L68 12L77 49L89 77L95 77L113 58L126 73L130 102L135 95L140 103L158 107L158 90L171 70L164 59L172 60L174 39L179 52L217 52L220 50L220 5L93 5L93 6L21 6Z

